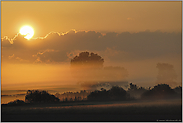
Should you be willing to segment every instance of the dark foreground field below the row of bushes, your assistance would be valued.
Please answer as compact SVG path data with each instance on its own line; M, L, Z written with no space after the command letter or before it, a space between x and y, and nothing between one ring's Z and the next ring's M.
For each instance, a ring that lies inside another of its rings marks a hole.
M181 100L2 105L2 121L182 121Z

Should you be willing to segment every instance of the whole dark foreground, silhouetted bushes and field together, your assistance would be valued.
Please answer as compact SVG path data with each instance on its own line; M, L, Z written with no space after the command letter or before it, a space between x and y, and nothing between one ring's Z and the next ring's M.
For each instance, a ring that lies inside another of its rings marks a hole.
M61 101L58 94L28 90L25 102L1 105L2 121L182 121L182 87L158 84L144 89L131 83L127 91L119 86L82 91L88 94L82 99L69 100L65 94Z

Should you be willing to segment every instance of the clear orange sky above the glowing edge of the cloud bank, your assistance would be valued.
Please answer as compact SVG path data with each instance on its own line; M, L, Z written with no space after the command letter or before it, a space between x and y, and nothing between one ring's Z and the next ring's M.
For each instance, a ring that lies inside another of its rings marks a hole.
M35 29L35 36L71 29L138 32L181 31L178 2L1 2L2 37L14 36L21 26Z

